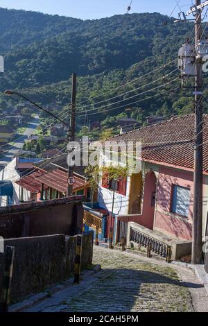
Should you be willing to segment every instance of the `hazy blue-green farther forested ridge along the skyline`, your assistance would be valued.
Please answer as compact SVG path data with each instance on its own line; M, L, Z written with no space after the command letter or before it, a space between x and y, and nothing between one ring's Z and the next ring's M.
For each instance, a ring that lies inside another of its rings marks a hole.
M158 13L146 13L83 21L0 9L5 83L20 88L43 85L66 80L73 71L86 76L128 69L156 55L169 60L189 28L164 26L166 20Z

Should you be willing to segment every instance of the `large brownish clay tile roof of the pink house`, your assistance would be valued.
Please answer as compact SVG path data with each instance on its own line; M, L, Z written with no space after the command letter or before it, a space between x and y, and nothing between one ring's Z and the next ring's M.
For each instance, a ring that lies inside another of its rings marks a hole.
M141 141L142 159L163 165L193 169L194 115L175 117L153 126L128 132L111 141ZM203 170L208 172L208 114L204 114Z

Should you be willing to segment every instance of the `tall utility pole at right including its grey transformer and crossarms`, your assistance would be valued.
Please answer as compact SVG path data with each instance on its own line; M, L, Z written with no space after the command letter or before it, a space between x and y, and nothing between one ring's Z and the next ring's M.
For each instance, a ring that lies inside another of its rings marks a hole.
M195 111L195 142L194 142L194 175L193 175L193 228L192 228L192 264L200 264L202 260L202 189L203 189L203 94L202 94L202 65L203 55L207 53L208 42L202 42L202 10L208 6L208 1L195 4L187 12L180 12L175 22L195 21L195 44L183 44L179 51L178 67L185 76L195 78L194 111ZM194 19L187 19L193 15ZM181 16L183 19L181 19ZM203 32L204 33L204 32ZM195 48L193 50L193 47ZM193 53L191 51L193 50ZM195 58L193 58L195 57ZM194 59L191 60L191 58ZM186 80L187 80L186 78ZM183 83L182 83L183 85ZM188 87L189 88L189 87Z

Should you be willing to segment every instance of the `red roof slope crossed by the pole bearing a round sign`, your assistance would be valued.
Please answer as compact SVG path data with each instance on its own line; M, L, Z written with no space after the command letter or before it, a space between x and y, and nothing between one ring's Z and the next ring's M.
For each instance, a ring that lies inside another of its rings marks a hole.
M48 173L42 173L37 180L43 182L44 185L58 190L62 193L67 192L67 172L60 169L53 170ZM76 183L73 185L73 190L84 188L86 185L85 180L76 177Z

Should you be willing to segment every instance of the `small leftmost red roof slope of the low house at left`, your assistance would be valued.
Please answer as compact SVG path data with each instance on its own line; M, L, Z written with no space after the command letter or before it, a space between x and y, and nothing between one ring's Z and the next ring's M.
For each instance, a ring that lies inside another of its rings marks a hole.
M42 175L41 172L35 171L30 175L15 181L15 183L17 183L17 185L21 186L22 188L31 191L32 194L38 194L41 191L41 182L37 179L37 177L40 175Z

